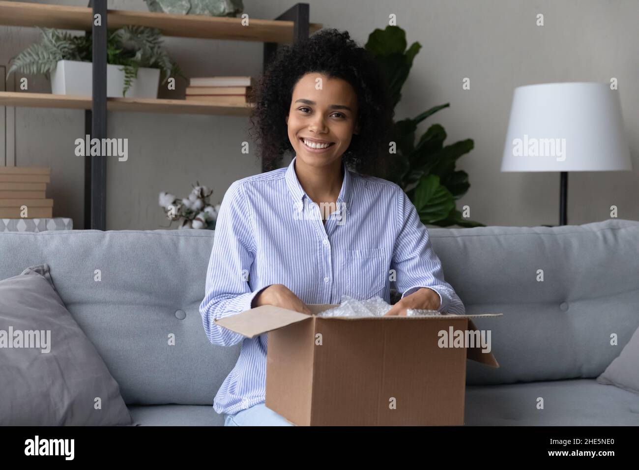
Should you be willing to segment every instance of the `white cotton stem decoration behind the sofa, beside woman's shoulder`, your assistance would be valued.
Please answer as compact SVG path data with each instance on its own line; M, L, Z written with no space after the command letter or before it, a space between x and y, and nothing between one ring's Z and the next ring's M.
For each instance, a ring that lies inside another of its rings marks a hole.
M196 182L188 198L176 198L173 194L162 191L159 203L171 223L178 221L178 228L215 230L220 205L211 205L211 194L213 194L212 189L200 186L199 182Z

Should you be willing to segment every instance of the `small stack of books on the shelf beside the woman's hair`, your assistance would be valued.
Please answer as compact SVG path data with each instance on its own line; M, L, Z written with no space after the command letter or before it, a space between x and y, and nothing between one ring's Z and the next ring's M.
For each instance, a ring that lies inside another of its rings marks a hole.
M190 79L187 100L215 104L246 104L254 88L252 77L200 77Z

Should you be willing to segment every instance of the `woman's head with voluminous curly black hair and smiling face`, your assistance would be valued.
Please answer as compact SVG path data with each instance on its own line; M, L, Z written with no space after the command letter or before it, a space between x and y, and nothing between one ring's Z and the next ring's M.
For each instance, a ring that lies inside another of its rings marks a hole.
M360 173L385 164L394 116L386 76L346 31L324 29L308 41L281 47L252 101L250 135L267 169L275 168L287 152L312 150L304 137L333 143L330 154ZM316 120L318 113L325 128L305 129L304 123ZM292 135L291 124L298 135Z

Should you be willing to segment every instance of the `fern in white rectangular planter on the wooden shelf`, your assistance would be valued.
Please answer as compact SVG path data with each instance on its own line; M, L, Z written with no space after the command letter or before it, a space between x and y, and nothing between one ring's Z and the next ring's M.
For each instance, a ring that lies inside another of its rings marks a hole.
M91 33L73 36L65 31L39 28L40 43L20 52L9 69L25 74L50 74L56 95L91 96ZM107 97L157 98L160 72L164 82L181 75L162 46L158 29L124 26L107 36Z

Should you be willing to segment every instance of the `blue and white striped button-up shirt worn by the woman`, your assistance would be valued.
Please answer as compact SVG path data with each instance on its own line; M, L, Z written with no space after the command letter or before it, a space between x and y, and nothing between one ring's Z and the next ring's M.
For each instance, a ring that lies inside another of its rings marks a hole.
M253 297L269 285L287 286L305 304L339 304L343 294L390 302L395 280L402 297L428 287L440 295L440 311L465 313L401 187L342 164L336 210L324 224L300 185L295 161L234 182L220 206L199 311L213 344L243 342L213 400L218 413L265 402L267 334L245 338L213 320L250 309Z

